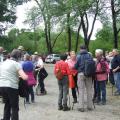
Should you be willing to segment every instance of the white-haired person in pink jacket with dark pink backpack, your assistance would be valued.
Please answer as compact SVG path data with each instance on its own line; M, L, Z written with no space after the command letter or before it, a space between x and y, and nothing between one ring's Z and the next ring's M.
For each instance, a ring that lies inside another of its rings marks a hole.
M97 89L97 104L106 104L106 81L109 73L108 62L103 57L103 50L95 51L96 61L96 89Z

